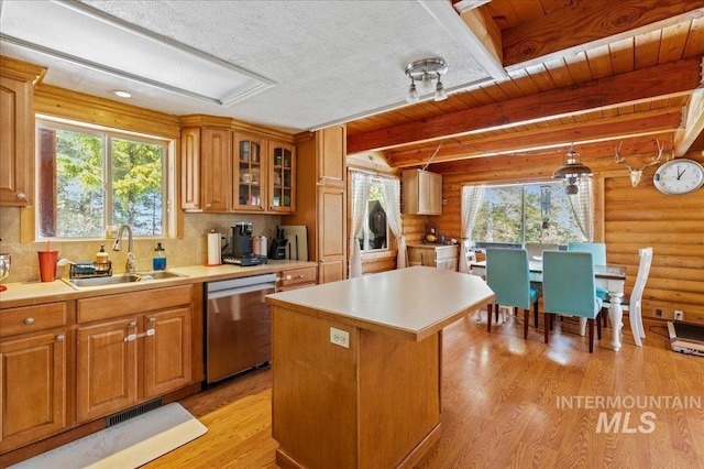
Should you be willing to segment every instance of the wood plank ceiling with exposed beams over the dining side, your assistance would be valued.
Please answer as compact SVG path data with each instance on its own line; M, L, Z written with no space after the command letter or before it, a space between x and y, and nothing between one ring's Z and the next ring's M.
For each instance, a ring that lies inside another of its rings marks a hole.
M477 3L454 4L508 78L349 122L349 154L407 167L570 143L605 157L619 142L648 154L658 140L676 156L701 145L704 0Z

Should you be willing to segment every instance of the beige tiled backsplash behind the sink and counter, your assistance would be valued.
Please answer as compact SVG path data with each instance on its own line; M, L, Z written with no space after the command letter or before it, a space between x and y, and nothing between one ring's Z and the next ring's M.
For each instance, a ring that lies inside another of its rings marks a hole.
M135 238L134 257L138 271L152 270L152 257L157 242L166 250L167 268L205 264L208 258L207 233L215 229L229 238L237 221L252 222L254 236L268 239L276 234L280 216L240 214L184 214L184 238ZM37 251L46 249L46 241L20 243L20 209L0 207L0 252L12 254L10 276L3 283L38 281ZM124 272L127 262L127 234L121 251L113 251L113 239L90 241L51 241L51 250L58 251L58 259L69 261L94 261L100 246L105 244L113 273ZM57 276L68 277L68 266L57 268Z

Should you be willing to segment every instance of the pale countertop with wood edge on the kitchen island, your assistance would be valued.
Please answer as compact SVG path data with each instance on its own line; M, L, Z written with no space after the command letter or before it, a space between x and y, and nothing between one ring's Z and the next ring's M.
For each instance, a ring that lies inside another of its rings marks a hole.
M421 341L494 299L474 275L397 269L266 296L272 305Z

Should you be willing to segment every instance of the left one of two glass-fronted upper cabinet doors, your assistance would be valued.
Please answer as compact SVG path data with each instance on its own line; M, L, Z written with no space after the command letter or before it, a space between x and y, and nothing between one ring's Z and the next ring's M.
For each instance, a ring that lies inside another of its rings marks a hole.
M264 210L266 200L263 177L266 173L262 146L260 139L235 135L234 205L238 209Z

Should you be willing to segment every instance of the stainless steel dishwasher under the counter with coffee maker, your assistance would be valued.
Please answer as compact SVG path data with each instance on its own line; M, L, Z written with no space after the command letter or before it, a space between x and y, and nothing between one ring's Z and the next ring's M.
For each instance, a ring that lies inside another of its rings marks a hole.
M272 318L264 296L275 274L206 284L206 382L266 363L272 357Z

